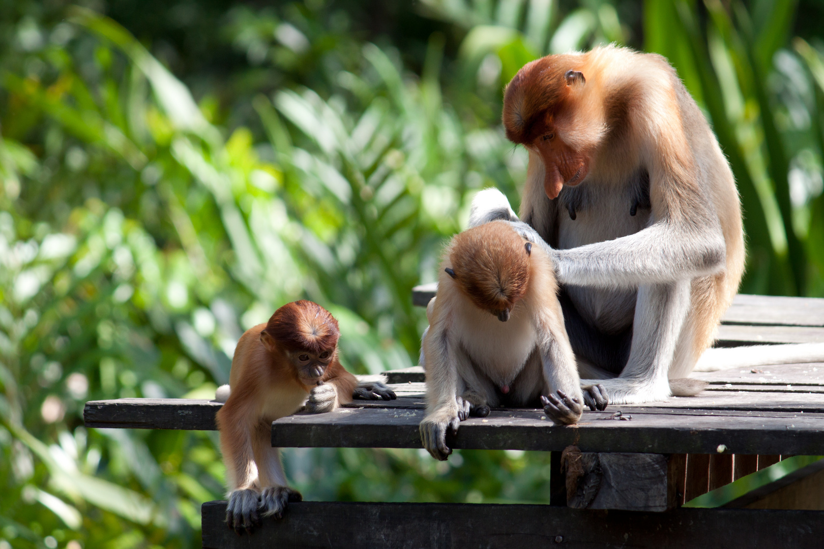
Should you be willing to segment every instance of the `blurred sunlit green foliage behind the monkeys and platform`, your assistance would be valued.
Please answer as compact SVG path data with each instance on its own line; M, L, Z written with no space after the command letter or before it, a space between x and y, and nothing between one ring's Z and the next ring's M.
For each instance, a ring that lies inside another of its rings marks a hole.
M344 363L414 365L411 287L475 190L517 209L503 85L543 54L664 54L746 211L742 291L824 295L821 2L0 2L0 549L199 547L213 432L82 406L208 397L289 300ZM639 75L643 77L643 75ZM545 501L548 455L286 451L307 499Z

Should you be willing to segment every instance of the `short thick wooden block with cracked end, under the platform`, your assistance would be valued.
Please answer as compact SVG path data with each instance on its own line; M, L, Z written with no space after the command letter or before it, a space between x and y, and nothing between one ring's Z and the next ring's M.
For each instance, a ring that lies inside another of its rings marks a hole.
M659 513L677 506L677 482L662 454L564 450L567 505ZM676 472L677 474L677 472Z

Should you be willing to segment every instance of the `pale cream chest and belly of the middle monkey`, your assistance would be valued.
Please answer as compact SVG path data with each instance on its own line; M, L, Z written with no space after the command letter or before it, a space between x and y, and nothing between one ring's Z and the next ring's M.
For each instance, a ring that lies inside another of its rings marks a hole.
M461 300L455 328L466 334L461 345L471 360L499 386L512 383L535 348L535 326L523 306L516 306L509 320L501 322L492 314L478 314L475 305Z

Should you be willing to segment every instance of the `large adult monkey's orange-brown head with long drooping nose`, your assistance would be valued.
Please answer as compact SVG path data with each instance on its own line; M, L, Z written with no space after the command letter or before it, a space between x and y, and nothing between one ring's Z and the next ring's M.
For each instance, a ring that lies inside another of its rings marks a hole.
M503 95L503 127L510 141L544 162L544 190L555 198L564 184L586 178L592 149L602 137L601 105L589 54L548 55L527 63ZM597 101L596 101L597 103Z

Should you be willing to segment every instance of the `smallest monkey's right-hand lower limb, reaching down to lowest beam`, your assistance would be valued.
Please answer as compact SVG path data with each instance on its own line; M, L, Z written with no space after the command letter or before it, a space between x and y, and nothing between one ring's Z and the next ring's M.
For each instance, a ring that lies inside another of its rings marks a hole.
M272 448L272 426L262 421L255 429L252 448L255 451L255 463L258 466L260 482L260 513L265 517L283 517L283 511L290 501L301 501L300 492L289 488L286 475L283 473L283 463L280 461L280 449Z

